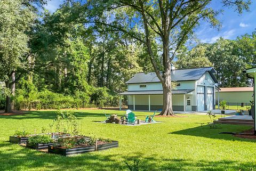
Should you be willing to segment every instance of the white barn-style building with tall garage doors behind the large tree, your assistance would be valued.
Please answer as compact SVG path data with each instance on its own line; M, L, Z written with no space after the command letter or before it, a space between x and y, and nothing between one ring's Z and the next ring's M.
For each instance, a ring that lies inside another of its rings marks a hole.
M174 111L204 111L215 109L215 83L213 67L175 69L171 78L175 82L172 89ZM119 95L127 96L130 110L162 110L163 88L155 72L137 73L127 84L127 91ZM121 110L121 98L120 98Z

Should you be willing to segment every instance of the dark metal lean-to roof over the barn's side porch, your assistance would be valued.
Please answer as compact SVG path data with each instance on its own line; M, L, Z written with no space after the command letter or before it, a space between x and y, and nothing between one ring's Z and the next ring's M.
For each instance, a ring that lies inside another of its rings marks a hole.
M188 94L193 91L194 91L194 89L173 89L172 94ZM127 92L119 93L119 95L147 95L147 94L163 94L163 91L162 90L127 91Z

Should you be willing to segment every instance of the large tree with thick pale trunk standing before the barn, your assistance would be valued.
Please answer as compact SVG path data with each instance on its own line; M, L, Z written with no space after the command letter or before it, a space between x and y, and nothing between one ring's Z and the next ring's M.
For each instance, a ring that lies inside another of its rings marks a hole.
M221 10L210 7L213 0L91 0L85 6L86 23L97 23L106 30L121 31L147 47L151 64L163 87L161 115L174 115L172 110L171 62L199 23L204 20L220 28ZM239 14L249 10L250 0L220 0ZM107 22L100 20L110 13ZM126 22L124 22L126 21Z

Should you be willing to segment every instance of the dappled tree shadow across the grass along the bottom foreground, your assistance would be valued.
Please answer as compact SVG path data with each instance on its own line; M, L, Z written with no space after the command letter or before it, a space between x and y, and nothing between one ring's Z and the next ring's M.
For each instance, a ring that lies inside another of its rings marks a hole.
M165 159L152 154L143 157L143 153L105 154L104 151L89 152L72 157L48 154L19 147L7 142L0 143L1 170L127 170L125 161L132 164L133 159L139 159L140 168L145 170L252 170L256 164L218 160ZM109 149L114 150L114 149ZM171 157L171 156L170 156Z

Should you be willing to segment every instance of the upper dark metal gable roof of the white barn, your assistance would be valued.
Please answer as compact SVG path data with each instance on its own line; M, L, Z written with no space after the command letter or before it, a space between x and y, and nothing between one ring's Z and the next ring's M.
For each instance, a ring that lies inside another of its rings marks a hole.
M201 78L205 72L209 72L215 83L218 83L216 77L213 75L215 70L213 67L205 68L192 68L192 69L178 69L171 71L171 78L174 82L188 81L188 80L198 80ZM155 72L137 73L132 77L126 84L133 83L155 83L160 82Z

